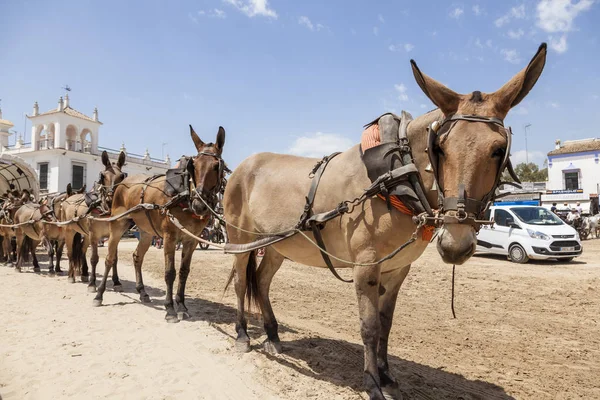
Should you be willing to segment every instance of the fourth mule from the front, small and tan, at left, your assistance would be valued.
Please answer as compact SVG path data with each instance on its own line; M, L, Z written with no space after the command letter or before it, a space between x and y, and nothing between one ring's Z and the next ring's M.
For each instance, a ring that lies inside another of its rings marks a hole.
M51 241L63 240L62 228L57 225L45 224L44 222L58 222L54 215L54 210L48 206L48 202L43 200L41 203L26 201L29 199L29 192L23 191L24 204L19 207L14 216L15 224L32 221L31 224L21 225L15 229L17 236L17 264L15 269L21 272L24 258L27 253L31 253L33 258L33 270L39 272L40 266L35 254L35 249L40 242L46 244L50 264L48 273L54 274L54 251Z

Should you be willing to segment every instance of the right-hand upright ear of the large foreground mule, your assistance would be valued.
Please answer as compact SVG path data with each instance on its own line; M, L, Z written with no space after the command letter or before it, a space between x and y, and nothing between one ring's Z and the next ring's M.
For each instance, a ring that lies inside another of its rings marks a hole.
M542 43L529 65L493 94L496 103L507 113L527 96L537 82L546 64L546 53L547 45Z

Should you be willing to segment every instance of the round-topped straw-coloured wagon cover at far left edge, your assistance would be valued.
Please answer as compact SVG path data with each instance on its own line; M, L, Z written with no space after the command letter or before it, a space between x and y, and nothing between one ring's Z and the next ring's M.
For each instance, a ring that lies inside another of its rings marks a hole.
M21 157L0 154L0 196L3 196L11 185L16 190L28 189L38 198L40 184L37 173Z

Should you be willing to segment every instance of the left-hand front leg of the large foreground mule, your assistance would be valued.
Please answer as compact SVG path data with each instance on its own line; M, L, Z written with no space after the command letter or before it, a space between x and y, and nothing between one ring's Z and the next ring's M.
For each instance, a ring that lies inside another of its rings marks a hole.
M361 251L356 262L375 260L375 251ZM354 287L358 298L360 335L364 344L364 385L371 400L384 400L377 369L377 345L379 343L379 280L381 268L361 266L354 268Z

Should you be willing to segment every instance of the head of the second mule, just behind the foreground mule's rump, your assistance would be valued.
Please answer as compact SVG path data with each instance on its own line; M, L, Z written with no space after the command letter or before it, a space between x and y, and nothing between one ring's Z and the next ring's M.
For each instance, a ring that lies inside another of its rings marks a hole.
M207 205L215 208L218 193L223 185L225 162L221 158L225 145L225 129L219 127L215 143L204 143L190 125L190 135L198 154L188 162L187 169L191 178L190 208L196 215L209 213Z

